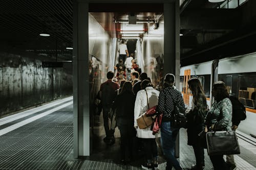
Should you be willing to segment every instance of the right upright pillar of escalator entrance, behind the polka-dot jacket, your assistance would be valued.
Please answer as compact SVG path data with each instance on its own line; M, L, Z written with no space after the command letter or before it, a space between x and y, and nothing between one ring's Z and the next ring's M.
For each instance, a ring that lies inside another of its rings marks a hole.
M172 73L176 77L176 87L180 84L180 2L164 3L164 75ZM176 140L175 156L179 157L179 134Z

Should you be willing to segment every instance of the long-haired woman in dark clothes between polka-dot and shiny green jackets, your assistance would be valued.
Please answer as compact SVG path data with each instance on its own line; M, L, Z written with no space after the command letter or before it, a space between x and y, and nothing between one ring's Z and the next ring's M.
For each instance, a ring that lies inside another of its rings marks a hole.
M203 87L197 78L188 80L188 87L193 94L192 109L187 114L187 144L194 149L196 165L191 169L202 170L204 166L204 148L198 134L204 129L204 118L207 113L206 97Z

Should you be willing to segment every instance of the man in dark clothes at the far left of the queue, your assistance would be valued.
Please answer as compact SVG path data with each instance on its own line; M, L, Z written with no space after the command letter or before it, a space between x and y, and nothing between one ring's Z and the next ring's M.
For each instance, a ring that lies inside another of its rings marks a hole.
M109 117L108 114L110 112L111 106L113 101L116 97L116 90L119 88L118 84L112 82L112 79L114 77L114 72L109 71L106 74L106 77L108 78L107 81L102 83L100 85L100 98L102 103L102 110L103 110L103 121L104 121L104 129L106 133L106 137L103 139L103 141L107 144L113 144L115 143L115 137L114 137L114 130L109 130Z

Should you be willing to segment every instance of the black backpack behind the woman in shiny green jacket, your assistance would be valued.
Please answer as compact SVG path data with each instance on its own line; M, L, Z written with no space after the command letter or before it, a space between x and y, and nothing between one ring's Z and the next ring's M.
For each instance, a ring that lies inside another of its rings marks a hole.
M244 120L246 119L246 111L244 105L239 102L236 96L229 96L229 99L232 103L232 122L233 120Z

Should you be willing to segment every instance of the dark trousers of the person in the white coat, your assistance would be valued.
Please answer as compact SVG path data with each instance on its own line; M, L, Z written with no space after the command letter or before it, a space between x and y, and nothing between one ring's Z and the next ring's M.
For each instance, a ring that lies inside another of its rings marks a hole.
M146 160L152 160L158 156L157 143L155 138L141 138L144 144L144 152Z

